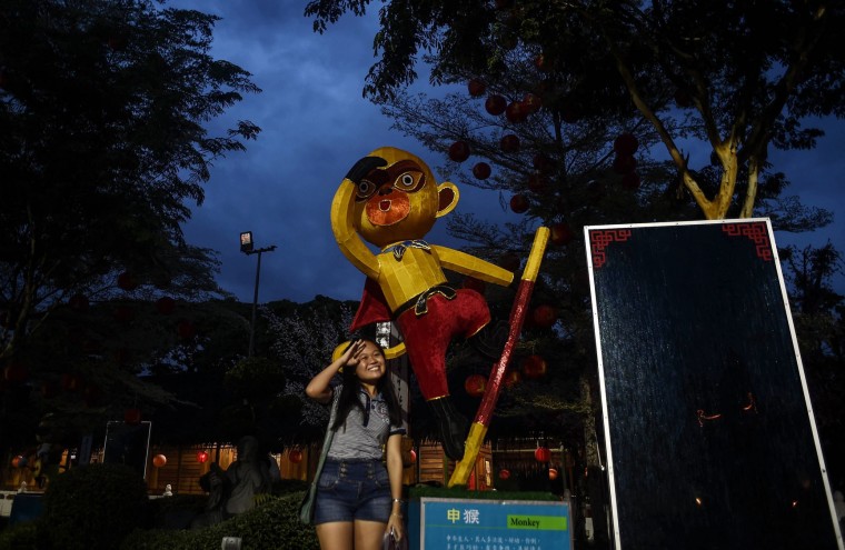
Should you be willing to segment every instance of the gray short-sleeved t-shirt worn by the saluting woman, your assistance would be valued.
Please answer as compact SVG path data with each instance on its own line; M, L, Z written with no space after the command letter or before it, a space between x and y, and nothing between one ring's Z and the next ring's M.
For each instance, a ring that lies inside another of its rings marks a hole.
M334 389L329 428L335 423L334 411L337 407L337 400L340 398L341 389L342 386L337 386ZM380 460L387 438L395 433L405 433L405 428L401 424L390 426L387 401L381 393L370 398L364 388L360 388L358 398L364 406L364 411L357 407L349 410L346 422L338 428L331 439L328 453L330 459Z

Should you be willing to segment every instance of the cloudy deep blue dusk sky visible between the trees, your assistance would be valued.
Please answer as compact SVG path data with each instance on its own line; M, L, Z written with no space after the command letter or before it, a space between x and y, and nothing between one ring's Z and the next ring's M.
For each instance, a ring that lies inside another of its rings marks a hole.
M256 247L278 247L261 258L260 303L305 302L317 294L359 299L364 276L340 253L329 226L331 198L341 178L360 157L384 146L415 152L436 173L446 160L445 153L428 151L391 130L391 121L361 98L375 61L371 44L381 3L374 2L365 18L345 16L322 36L312 32L311 20L302 16L305 0L171 0L167 6L221 17L212 54L251 72L264 90L211 122L212 133L237 120L250 120L262 132L247 143L246 152L230 153L212 167L206 201L193 208L186 239L219 252L218 282L241 301L252 301L256 277L257 257L239 251L238 236L247 230ZM415 90L424 91L428 74L424 69L418 73ZM788 194L834 210L835 222L797 240L777 233L778 246L845 242L845 122L835 121L826 130L815 150L774 151L771 160L793 180ZM517 220L501 209L498 193L454 182L461 192L457 211ZM445 223L441 219L435 226L429 240L459 247L447 240ZM836 287L845 292L845 278L837 278Z

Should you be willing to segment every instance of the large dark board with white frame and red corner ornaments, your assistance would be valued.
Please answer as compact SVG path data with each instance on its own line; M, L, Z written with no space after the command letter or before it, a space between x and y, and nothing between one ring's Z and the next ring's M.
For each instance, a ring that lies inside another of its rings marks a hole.
M585 232L615 548L842 550L768 220Z

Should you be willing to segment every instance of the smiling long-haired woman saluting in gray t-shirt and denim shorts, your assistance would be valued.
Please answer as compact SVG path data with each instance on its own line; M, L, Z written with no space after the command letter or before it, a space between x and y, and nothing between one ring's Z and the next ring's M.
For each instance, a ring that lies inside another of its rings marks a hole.
M342 369L342 382L329 382ZM381 348L356 340L311 379L306 394L337 401L320 473L314 522L325 550L377 550L386 532L405 537L401 518L401 410ZM387 469L382 463L386 449Z

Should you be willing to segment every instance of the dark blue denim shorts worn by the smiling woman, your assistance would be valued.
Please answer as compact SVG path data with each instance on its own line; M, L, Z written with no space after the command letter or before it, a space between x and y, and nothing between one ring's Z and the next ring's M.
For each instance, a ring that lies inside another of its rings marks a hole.
M391 506L390 480L380 460L326 460L317 483L315 524L355 520L387 523Z

